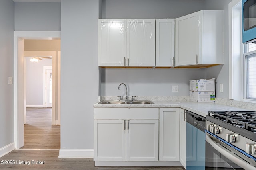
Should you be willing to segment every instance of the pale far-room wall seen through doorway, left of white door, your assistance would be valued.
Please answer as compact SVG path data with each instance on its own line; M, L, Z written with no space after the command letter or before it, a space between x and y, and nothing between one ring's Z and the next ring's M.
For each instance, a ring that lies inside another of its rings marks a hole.
M43 104L43 70L44 66L52 66L52 59L43 59L37 63L30 61L32 57L26 58L26 104Z

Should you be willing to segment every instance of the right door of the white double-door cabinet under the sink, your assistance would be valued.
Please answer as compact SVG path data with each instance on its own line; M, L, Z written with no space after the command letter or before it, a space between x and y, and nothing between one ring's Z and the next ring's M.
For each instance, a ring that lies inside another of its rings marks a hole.
M158 161L158 120L129 120L127 161Z

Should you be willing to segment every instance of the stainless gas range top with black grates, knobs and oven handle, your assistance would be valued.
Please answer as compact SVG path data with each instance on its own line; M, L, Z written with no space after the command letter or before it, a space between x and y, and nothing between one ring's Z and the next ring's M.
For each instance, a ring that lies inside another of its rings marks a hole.
M256 111L209 111L205 132L206 142L220 148L218 152L229 150L233 162L241 158L246 164L241 167L256 169Z

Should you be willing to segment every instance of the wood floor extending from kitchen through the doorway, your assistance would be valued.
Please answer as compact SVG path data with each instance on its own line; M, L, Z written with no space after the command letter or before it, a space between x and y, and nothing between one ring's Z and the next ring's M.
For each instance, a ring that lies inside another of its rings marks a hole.
M58 158L60 126L51 109L27 109L24 147L0 158L0 170L184 170L183 167L95 167L92 158ZM2 164L2 162L6 164Z

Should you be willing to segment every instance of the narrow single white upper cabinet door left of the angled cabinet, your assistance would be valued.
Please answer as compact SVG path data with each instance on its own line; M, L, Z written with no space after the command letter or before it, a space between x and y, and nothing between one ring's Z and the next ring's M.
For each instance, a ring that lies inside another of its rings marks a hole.
M174 66L174 19L156 19L156 66Z

